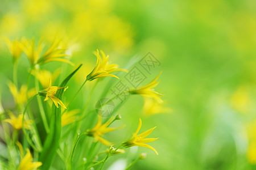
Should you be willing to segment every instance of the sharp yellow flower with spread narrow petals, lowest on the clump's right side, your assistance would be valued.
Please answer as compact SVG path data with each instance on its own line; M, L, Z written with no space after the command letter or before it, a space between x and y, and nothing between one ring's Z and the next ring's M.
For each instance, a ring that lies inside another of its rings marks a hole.
M133 137L131 137L129 140L123 142L122 146L123 147L131 147L131 146L147 147L147 148L150 148L151 150L153 150L156 153L156 155L158 155L158 152L155 150L155 148L153 148L150 145L145 144L148 142L153 142L156 139L158 139L158 138L146 138L156 128L156 126L155 126L155 128L148 129L147 131L144 131L142 134L137 135L139 130L141 129L141 125L142 125L142 121L140 118L137 131L133 134ZM144 138L146 138L146 139L144 139Z

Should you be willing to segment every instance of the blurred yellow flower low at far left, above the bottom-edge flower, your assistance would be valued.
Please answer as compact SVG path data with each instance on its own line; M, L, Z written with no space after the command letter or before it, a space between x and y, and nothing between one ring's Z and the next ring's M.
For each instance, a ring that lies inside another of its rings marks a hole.
M18 117L16 117L13 112L8 111L10 118L7 118L4 120L5 122L8 122L13 126L14 129L19 130L22 129L22 118L23 114L19 114ZM24 128L30 129L30 126L32 124L32 120L24 120Z

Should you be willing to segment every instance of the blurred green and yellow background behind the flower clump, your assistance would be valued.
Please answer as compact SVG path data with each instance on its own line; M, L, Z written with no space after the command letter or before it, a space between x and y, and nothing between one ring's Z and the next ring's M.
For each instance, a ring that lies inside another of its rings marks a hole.
M151 137L159 139L150 145L159 156L138 148L148 155L133 169L254 169L255 6L253 0L0 0L3 107L10 107L13 99L6 84L12 79L12 61L2 37L63 38L72 47L71 61L84 63L79 84L93 69L96 49L121 67L151 52L162 64L144 83L163 71L155 89L164 94L171 114L144 117L141 96L132 96L118 111L127 125L122 135L113 133L119 141L136 130L139 117L142 131L158 126ZM26 78L26 57L19 65L19 76ZM72 94L67 91L67 96Z

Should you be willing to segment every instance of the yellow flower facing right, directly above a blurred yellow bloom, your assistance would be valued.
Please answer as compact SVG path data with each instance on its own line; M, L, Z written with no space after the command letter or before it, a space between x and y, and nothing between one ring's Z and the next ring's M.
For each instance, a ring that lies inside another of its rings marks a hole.
M152 80L151 83L147 84L146 86L142 86L142 87L139 87L139 88L135 88L135 89L131 89L130 90L130 94L135 94L135 95L141 95L141 96L145 96L145 97L150 97L152 99L155 99L156 101L158 101L159 103L162 103L163 100L160 99L159 96L163 96L162 94L159 94L158 92L156 92L154 90L154 87L156 87L158 85L158 83L160 82L159 81L156 81L160 74L162 72L160 72L158 74L158 76L156 76L156 78L154 80Z

